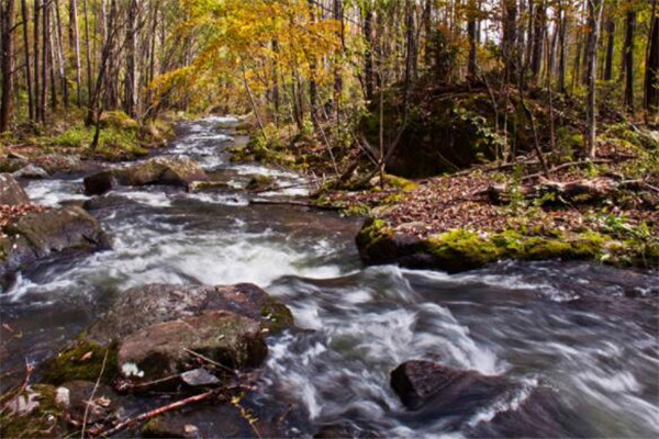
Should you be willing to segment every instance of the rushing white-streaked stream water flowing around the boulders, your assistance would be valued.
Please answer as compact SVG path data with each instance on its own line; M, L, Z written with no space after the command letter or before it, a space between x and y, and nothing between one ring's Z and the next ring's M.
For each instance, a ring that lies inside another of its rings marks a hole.
M259 198L305 191L290 188L295 175L230 164L225 148L246 139L227 122L187 124L163 154L200 161L228 189L124 188L94 199L88 207L112 250L40 261L0 294L0 317L14 331L2 333L4 373L52 354L130 286L254 282L300 328L270 338L260 380L304 408L311 432L340 424L381 437L659 436L656 273L558 261L451 275L364 268L359 219L248 203L241 189L255 175L288 188ZM26 189L58 205L87 200L81 185L63 178ZM448 418L410 412L389 373L411 359L502 375L511 392ZM521 409L540 390L554 395L540 397L545 409Z

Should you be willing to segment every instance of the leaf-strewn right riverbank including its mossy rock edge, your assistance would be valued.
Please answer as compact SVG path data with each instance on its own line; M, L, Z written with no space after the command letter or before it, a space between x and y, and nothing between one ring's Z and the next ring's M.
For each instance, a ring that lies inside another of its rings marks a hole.
M505 259L574 259L657 269L659 140L655 132L636 130L612 126L596 160L555 160L548 173L528 155L433 178L388 176L383 187L368 177L365 160L336 150L332 159L342 158L343 175L328 177L312 198L368 218L356 239L367 264L461 271ZM331 176L320 138L300 144L284 136L270 144L284 146L272 154L256 143L234 157L292 169L303 162L309 175ZM309 160L314 151L315 161Z

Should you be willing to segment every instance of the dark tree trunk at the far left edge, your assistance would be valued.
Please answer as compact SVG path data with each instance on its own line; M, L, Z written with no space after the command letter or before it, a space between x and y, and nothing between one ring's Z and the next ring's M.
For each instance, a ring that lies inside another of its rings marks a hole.
M13 113L13 19L14 0L5 0L2 8L2 99L0 101L0 133L9 130Z

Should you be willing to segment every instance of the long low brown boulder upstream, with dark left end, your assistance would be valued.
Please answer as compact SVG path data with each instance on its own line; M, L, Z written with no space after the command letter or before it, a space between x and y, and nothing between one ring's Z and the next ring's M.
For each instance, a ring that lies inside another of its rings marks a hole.
M104 170L85 178L85 192L100 195L114 187L167 184L189 189L194 181L206 181L208 176L192 160L157 157L127 168Z

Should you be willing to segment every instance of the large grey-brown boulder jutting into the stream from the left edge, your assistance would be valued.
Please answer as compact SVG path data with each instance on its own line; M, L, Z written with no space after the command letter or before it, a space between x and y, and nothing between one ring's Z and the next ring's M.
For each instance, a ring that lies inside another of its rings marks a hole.
M33 212L2 228L0 237L0 284L25 264L67 249L98 250L110 240L99 223L77 206Z

